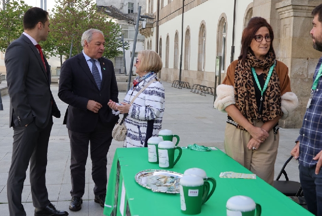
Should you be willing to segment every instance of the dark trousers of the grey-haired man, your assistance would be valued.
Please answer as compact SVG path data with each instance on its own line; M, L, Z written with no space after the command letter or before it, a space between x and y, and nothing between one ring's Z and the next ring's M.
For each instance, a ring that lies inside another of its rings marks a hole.
M90 154L92 159L92 178L95 183L94 194L106 194L107 152L112 142L112 127L104 126L100 120L91 133L78 133L68 130L70 139L71 196L83 197L85 192L85 166Z

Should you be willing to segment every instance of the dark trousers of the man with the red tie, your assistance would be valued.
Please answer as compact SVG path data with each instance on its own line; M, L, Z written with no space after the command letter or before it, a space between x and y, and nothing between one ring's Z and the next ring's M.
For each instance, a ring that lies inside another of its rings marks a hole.
M46 188L47 150L53 119L41 129L32 121L28 126L15 126L7 196L10 215L26 216L21 204L23 183L30 162L30 185L34 207L50 204Z

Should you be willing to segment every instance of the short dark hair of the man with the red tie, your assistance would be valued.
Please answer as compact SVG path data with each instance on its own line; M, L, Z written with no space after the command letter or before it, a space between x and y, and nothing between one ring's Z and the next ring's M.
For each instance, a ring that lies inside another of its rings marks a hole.
M48 12L41 8L29 8L23 16L23 29L33 29L38 22L45 22L48 20Z

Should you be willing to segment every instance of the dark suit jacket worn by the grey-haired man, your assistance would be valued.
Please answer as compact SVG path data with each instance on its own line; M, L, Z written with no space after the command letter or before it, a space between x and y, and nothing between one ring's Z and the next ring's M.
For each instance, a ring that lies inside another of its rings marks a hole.
M83 53L66 60L61 67L58 96L69 105L64 123L71 131L89 133L94 131L99 119L108 127L113 127L118 120L118 116L112 114L107 105L109 100L118 102L113 63L105 58L100 58L99 62L102 71L101 90L97 87ZM89 100L102 104L98 113L87 109Z

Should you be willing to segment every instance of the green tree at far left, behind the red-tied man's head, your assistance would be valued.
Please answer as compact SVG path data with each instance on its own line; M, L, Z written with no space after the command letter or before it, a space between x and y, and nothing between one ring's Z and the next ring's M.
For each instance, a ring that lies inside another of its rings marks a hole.
M10 43L23 32L23 15L30 8L24 1L8 2L0 9L0 51L5 52Z

